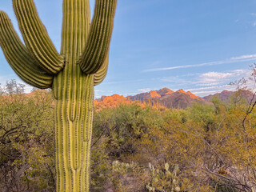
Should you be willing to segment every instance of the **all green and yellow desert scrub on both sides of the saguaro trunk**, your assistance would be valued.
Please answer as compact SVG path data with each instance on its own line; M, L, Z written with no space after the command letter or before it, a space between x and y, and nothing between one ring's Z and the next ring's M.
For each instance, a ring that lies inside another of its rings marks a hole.
M97 110L91 191L255 191L254 110L246 114L250 104L239 92L229 103L212 102ZM54 191L53 108L48 91L23 94L14 81L2 87L1 191Z

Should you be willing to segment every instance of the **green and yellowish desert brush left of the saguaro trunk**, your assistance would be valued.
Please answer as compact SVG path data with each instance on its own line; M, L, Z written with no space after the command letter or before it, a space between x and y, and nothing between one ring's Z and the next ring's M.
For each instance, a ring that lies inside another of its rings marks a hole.
M1 191L49 191L54 186L54 123L48 91L26 95L7 82L0 96Z

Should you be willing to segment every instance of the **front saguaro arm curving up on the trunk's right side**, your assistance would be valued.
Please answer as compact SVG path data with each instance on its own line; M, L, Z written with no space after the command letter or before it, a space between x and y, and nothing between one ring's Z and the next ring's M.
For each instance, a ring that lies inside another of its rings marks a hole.
M89 37L78 60L81 70L86 74L96 73L106 60L116 6L117 0L96 0Z

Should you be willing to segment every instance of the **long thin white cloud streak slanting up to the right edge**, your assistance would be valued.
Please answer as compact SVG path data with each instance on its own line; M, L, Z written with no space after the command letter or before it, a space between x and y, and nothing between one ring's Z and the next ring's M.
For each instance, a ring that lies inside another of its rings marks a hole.
M256 54L246 54L238 57L229 58L226 60L218 61L218 62L203 62L200 64L195 65L185 65L185 66L170 66L170 67L162 67L162 68L154 68L149 70L144 70L143 72L155 72L155 71L162 71L162 70L176 70L176 69L185 69L191 67L199 67L199 66L217 66L226 63L234 63L234 62L247 62L256 60Z

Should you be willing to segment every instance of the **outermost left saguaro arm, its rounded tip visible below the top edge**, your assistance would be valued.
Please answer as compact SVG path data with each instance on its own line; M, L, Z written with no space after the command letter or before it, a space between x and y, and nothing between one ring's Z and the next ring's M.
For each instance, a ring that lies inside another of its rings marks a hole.
M51 86L52 75L46 74L30 56L3 11L0 11L0 46L10 66L24 82L41 89Z

